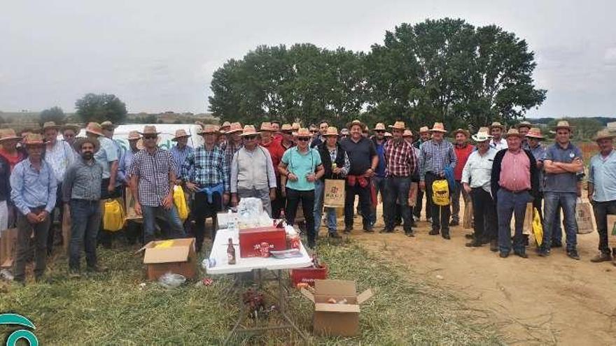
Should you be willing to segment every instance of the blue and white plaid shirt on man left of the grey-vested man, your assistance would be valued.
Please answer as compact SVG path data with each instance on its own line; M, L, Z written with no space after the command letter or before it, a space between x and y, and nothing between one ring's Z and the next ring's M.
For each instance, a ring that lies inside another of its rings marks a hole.
M218 145L213 150L207 150L202 145L188 154L182 165L181 177L199 187L223 184L225 192L230 192L229 164L225 152Z

